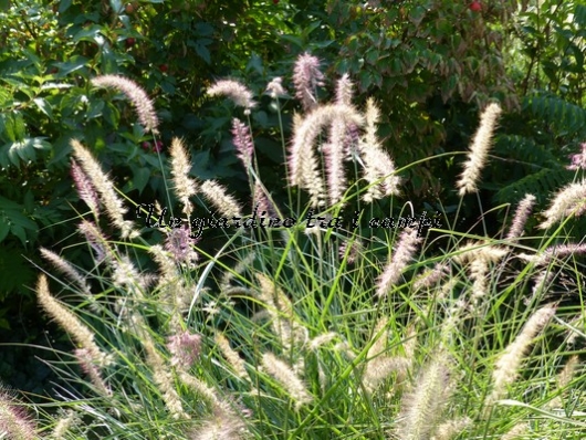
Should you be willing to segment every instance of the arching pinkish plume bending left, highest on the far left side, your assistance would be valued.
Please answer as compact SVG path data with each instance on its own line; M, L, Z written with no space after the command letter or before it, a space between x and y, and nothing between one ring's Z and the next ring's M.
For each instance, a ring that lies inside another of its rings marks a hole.
M143 127L147 132L158 134L159 122L153 101L134 81L118 75L101 75L92 78L92 84L96 87L115 88L122 92L135 107L138 121Z

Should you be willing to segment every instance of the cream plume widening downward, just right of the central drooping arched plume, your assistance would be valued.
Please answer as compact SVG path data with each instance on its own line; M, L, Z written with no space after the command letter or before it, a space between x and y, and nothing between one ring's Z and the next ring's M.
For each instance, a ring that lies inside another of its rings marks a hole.
M373 98L366 102L366 133L358 142L358 151L364 163L364 178L368 189L363 196L367 203L399 193L400 179L395 176L395 164L383 149L377 136L380 112Z

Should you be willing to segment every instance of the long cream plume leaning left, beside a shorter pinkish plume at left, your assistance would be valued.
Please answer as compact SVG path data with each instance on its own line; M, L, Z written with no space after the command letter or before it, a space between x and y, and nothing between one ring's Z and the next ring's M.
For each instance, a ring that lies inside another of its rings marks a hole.
M127 212L127 209L124 207L122 200L118 199L114 190L114 185L112 185L112 181L105 172L102 171L100 164L79 140L72 139L71 146L73 147L73 154L80 161L86 176L90 177L95 189L100 192L102 203L106 208L106 213L114 226L122 231L122 237L124 239L137 237L138 232L133 231L133 223L124 220L124 214Z

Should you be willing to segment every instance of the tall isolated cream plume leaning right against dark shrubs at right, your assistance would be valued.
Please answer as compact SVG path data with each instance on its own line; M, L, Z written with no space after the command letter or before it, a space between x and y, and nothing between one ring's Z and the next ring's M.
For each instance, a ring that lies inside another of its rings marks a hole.
M492 135L496 121L501 115L501 106L492 103L484 108L480 116L480 127L474 134L474 139L470 146L468 161L464 164L464 170L457 184L460 196L478 191L477 184L480 179L480 174L489 155L491 147Z

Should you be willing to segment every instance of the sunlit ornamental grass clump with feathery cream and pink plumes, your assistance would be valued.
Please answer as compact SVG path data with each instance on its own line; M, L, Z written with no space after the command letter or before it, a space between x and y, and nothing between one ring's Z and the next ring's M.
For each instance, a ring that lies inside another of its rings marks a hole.
M252 123L262 102L233 80L208 95L237 104L226 128L248 199L196 176L190 145L172 139L172 193L135 203L92 145L72 142L86 258L43 250L55 273L35 289L72 341L50 364L66 385L46 404L19 404L38 427L0 396L0 437L449 440L584 428L584 244L562 227L531 230L568 226L577 187L543 213L526 195L498 237L448 229L458 212L431 221L401 199L405 168L350 80L328 84L303 54L293 81L269 83L268 111L293 121L280 138L284 196L263 181ZM478 190L500 114L482 113L462 198Z

